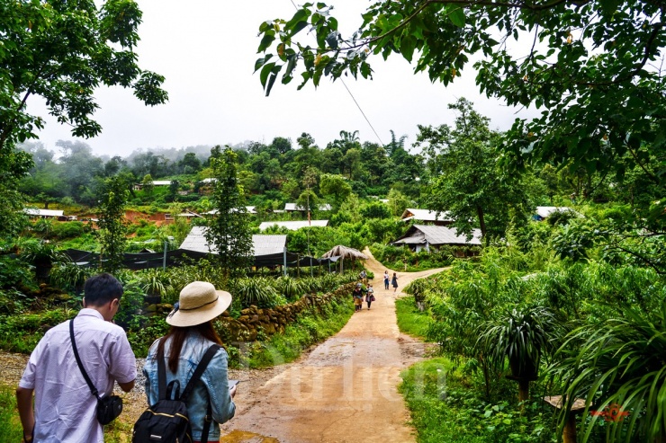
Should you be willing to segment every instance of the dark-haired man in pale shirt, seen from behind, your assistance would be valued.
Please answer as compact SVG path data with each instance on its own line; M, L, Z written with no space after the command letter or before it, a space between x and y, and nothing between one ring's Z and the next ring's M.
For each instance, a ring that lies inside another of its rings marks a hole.
M115 381L125 392L134 387L136 359L122 328L112 323L123 289L111 274L85 281L84 309L74 320L76 349L101 397ZM32 394L34 393L34 411ZM69 321L51 328L32 351L16 389L25 443L102 443L97 399L76 364Z

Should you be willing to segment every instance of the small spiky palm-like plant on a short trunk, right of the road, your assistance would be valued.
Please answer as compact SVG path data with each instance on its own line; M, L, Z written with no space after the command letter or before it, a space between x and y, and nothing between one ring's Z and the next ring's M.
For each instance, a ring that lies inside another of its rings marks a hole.
M482 326L477 347L498 370L509 359L511 374L520 384L518 398L523 401L529 396L529 382L538 375L542 354L555 349L560 330L560 322L546 307L512 309Z

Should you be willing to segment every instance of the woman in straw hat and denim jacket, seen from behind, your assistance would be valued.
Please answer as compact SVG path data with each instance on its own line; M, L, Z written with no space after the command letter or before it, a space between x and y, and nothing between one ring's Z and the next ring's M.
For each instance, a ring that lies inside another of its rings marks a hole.
M171 329L148 350L148 358L143 368L148 404L157 403L159 395L158 353L165 356L166 383L178 380L181 389L184 389L206 350L212 344L221 344L220 337L212 327L212 320L222 314L230 304L229 292L215 290L211 283L194 281L183 288L178 303L166 318ZM202 441L204 418L209 405L212 426L208 442L220 441L220 423L228 421L236 412L236 405L232 400L235 394L236 386L229 389L227 352L220 348L187 398L187 414L195 443Z

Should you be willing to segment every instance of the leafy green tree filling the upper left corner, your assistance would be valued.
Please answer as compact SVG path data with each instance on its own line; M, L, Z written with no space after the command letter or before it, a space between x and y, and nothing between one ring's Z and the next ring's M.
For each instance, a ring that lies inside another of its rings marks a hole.
M0 236L12 235L23 197L16 181L30 156L15 144L37 137L44 120L26 103L41 96L49 113L76 137L94 137L101 126L94 90L102 84L130 87L148 105L166 102L164 77L137 65L134 47L141 11L132 0L41 2L14 0L0 6Z

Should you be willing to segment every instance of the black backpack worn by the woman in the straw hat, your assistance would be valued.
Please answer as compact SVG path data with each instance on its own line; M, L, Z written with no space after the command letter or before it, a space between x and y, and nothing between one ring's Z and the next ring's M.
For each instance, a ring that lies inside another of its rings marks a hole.
M164 338L162 340L165 340ZM192 426L187 417L187 397L192 392L194 384L202 377L212 356L220 349L220 345L211 345L202 360L194 369L190 381L180 394L180 382L173 380L166 385L166 367L164 364L164 347L157 352L157 385L159 397L157 403L148 407L139 420L134 423L132 443L191 443ZM203 423L202 443L208 441L208 432L211 430L211 403Z

